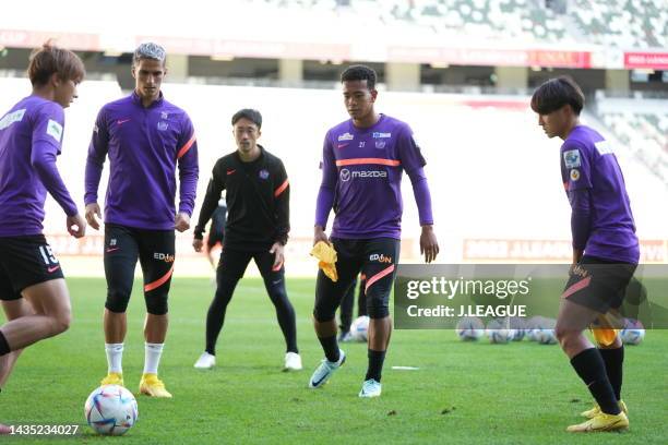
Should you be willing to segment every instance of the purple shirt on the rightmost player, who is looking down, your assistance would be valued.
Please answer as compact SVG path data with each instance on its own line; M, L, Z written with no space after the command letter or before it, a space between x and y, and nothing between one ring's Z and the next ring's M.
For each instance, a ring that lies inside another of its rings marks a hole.
M573 246L586 255L637 264L640 248L624 177L611 145L578 125L561 146L561 177L573 209Z

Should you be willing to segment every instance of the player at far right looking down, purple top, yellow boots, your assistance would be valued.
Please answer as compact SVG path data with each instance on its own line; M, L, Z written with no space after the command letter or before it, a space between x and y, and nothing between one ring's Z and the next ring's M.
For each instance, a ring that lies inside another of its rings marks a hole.
M584 95L570 77L540 85L530 105L547 136L563 140L561 177L572 207L573 264L556 334L597 404L582 413L589 420L568 431L625 430L629 419L620 397L622 342L617 335L608 340L595 335L595 348L583 334L621 306L637 266L639 242L624 178L608 141L580 123Z

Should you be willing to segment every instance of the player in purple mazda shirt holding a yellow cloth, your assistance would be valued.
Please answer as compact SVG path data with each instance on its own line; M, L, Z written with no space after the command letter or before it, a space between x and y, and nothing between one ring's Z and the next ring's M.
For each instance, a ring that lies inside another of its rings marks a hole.
M325 358L311 376L309 387L324 385L346 360L336 341L334 313L361 270L367 277L365 291L371 320L369 366L359 396L378 397L392 332L389 300L399 255L403 171L410 178L418 205L422 227L420 252L427 263L436 258L439 244L432 230L431 196L422 169L426 161L413 131L406 123L374 110L378 91L373 70L353 65L341 80L344 104L351 119L325 135L313 237L314 244L331 242L336 250L338 279L332 281L322 270L318 274L313 323ZM332 208L336 216L327 238L325 228Z

